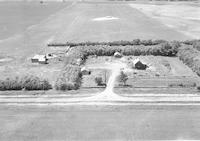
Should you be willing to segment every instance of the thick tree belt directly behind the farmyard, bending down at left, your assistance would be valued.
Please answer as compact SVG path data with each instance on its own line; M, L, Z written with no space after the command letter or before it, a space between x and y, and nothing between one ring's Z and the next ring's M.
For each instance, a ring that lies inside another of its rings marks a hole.
M180 44L177 42L161 43L154 46L78 46L71 48L65 59L65 64L81 65L87 56L113 56L115 52L121 52L123 55L161 55L175 56Z

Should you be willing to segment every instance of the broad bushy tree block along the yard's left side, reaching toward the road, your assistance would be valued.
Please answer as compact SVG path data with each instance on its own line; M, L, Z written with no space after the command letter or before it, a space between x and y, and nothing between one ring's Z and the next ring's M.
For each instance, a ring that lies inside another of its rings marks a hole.
M81 69L75 65L66 65L57 78L56 90L77 90L81 86Z

